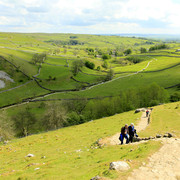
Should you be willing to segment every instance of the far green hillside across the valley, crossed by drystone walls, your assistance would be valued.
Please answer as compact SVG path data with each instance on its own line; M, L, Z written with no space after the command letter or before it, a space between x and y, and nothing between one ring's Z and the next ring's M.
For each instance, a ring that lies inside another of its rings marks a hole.
M26 85L27 79L22 79L18 73L11 75L10 68L4 68L10 76L14 76L15 83L6 82L6 87L0 90L0 106L19 103L27 98L50 93L51 90L64 92L52 94L45 99L115 96L121 90L143 87L153 82L164 88L180 82L179 54L175 52L180 47L178 43L168 43L168 49L142 54L140 48L148 49L162 42L143 38L80 34L0 33L0 39L0 55L16 65L32 80L36 75L39 78L39 85L49 89L43 89L34 81ZM88 51L87 48L93 52ZM140 63L127 60L123 52L128 48L132 50L132 54L128 57L140 58ZM32 63L35 53L47 54L41 67ZM102 67L104 64L102 54L111 54L111 58L107 60L107 69ZM71 69L73 62L77 60L93 62L95 69L83 67L82 72L73 80ZM98 66L100 71L96 69ZM114 71L114 81L80 91L89 84L100 83L106 78L110 69ZM140 73L133 74L137 71ZM11 89L14 87L17 89ZM77 92L66 92L71 89L76 89ZM5 90L8 92L4 92ZM170 88L168 91L172 94L178 89Z

